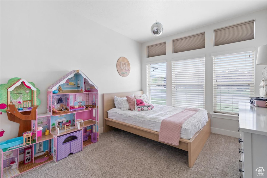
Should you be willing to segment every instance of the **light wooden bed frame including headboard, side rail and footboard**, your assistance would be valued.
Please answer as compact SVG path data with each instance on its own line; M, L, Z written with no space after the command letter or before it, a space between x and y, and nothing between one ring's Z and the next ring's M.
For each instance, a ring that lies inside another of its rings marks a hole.
M134 133L136 135L140 135L142 137L146 137L151 140L159 141L159 132L108 118L107 111L112 108L115 108L114 96L125 97L131 94L143 94L143 91L103 94L104 132L108 132L110 130L113 130L114 128L118 128L121 130L125 130L127 132ZM178 146L167 143L164 144L171 145L172 147L188 151L188 166L192 168L199 153L201 152L203 146L205 145L209 135L210 135L210 118L206 123L206 125L197 133L195 133L195 135L190 140L180 139Z

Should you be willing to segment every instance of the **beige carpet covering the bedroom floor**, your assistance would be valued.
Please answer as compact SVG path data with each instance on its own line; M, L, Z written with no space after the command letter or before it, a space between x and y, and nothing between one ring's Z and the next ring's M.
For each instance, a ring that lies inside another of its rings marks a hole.
M238 139L211 133L193 168L186 151L115 130L100 134L98 143L19 177L239 177Z

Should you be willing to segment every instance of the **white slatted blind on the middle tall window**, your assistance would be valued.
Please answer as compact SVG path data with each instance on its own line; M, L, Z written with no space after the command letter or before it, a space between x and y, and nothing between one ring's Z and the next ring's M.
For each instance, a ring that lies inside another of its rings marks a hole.
M205 108L205 58L172 62L172 106Z

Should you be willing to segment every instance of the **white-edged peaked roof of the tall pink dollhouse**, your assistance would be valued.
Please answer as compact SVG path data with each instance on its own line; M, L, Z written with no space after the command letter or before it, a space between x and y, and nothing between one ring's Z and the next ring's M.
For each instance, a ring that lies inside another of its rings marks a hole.
M93 86L95 89L98 90L98 87L86 75L84 75L84 73L81 72L81 70L72 70L69 73L67 73L65 76L61 77L53 85L49 86L48 91L56 90L59 85L64 84L68 80L68 78L73 77L74 74L76 74L76 73L81 74L85 79L88 80L90 86ZM87 82L87 81L85 80L85 82Z

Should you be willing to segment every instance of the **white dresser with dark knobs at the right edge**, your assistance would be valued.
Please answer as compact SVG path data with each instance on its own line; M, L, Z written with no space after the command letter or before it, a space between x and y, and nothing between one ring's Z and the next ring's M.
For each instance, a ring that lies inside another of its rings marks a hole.
M238 131L243 178L267 178L267 108L239 103Z

